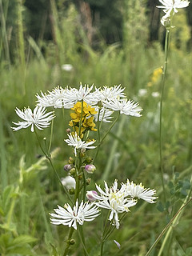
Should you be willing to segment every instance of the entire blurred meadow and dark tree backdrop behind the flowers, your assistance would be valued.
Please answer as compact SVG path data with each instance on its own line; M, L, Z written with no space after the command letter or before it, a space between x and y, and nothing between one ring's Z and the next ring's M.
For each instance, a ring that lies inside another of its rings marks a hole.
M79 83L126 87L142 106L142 118L121 116L103 143L94 182L126 178L158 190L157 206L140 204L108 242L109 255L145 255L190 191L192 5L178 10L171 30L163 105L163 165L167 201L162 200L159 166L159 101L166 30L158 1L0 0L0 252L52 255L63 250L67 228L50 225L49 212L67 202L42 158L30 129L13 132L14 109L34 108L40 91ZM60 177L72 155L66 147L70 111L55 110L54 165ZM103 134L108 130L103 126ZM50 130L39 132L50 138ZM94 134L93 134L94 136ZM91 155L91 153L90 153ZM191 209L191 208L190 208ZM128 217L128 216L127 216ZM152 221L153 220L153 221ZM95 223L95 222L94 222ZM95 224L93 224L95 225ZM175 227L162 255L191 255L190 210ZM126 227L126 228L125 228ZM88 246L97 254L99 232L88 226ZM63 231L64 230L64 231ZM122 243L118 251L113 239ZM131 240L131 242L130 242ZM161 242L151 255L158 255ZM73 250L73 249L72 249ZM56 254L55 254L56 255ZM77 250L73 255L82 255ZM108 255L107 253L105 255Z

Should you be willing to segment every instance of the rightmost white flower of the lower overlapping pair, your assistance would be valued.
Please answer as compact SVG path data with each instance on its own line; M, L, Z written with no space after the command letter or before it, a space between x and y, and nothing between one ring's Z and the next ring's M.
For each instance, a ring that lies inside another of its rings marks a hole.
M136 185L134 182L130 182L127 179L126 184L122 184L125 187L126 194L130 195L131 198L141 198L146 202L154 203L154 200L157 199L154 197L156 190L146 189L142 186L142 183Z

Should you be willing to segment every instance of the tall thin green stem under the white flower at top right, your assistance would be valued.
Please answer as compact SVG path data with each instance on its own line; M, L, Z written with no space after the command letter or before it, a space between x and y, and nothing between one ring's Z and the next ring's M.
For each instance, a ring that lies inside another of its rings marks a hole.
M166 82L166 70L167 70L167 59L168 59L168 50L170 45L170 30L166 29L166 42L165 42L165 62L162 72L162 92L160 100L160 114L159 114L159 156L160 156L160 166L161 166L161 178L162 178L162 189L164 194L164 202L166 202L166 190L163 179L163 163L162 163L162 100L164 94L164 87Z

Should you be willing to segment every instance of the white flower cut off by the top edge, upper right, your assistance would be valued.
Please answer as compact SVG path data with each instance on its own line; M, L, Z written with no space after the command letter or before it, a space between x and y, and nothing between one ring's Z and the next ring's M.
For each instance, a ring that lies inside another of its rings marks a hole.
M178 8L185 8L189 6L190 2L187 0L159 0L162 3L162 6L157 6L162 8L165 15L162 17L161 22L163 26L166 26L170 21L170 15L173 11L173 14L178 13Z

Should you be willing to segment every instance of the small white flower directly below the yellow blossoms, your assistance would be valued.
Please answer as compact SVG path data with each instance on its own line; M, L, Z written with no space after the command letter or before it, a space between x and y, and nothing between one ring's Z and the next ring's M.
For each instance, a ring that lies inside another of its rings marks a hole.
M94 144L94 140L90 142L83 142L82 139L78 136L77 133L73 134L67 134L69 138L65 139L64 141L69 145L69 146L74 146L74 154L77 155L77 150L92 150L96 146L90 146Z

